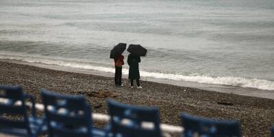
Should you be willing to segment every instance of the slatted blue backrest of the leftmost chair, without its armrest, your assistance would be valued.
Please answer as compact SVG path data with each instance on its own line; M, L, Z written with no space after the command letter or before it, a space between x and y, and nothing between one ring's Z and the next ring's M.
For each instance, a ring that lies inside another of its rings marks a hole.
M0 98L5 101L0 103L0 126L26 129L28 134L32 134L21 86L0 86ZM16 102L21 102L21 105L16 105Z

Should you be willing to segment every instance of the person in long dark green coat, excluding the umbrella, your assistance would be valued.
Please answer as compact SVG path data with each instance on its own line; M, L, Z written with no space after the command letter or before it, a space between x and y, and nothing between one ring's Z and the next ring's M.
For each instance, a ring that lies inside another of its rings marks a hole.
M134 79L136 79L137 88L140 86L140 72L139 72L140 56L129 54L127 57L127 64L129 64L129 79L131 88L134 87Z

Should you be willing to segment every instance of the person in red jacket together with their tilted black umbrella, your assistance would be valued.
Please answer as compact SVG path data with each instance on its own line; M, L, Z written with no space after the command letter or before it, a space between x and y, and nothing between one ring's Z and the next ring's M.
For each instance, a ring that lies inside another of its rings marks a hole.
M114 59L115 76L114 82L116 86L123 86L122 84L122 66L124 63L124 56L122 55L127 47L126 43L119 43L110 51L110 58Z

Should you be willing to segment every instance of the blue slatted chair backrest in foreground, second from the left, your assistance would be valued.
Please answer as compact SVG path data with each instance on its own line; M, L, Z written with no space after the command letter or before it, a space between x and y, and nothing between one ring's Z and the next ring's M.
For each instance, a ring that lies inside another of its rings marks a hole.
M61 95L42 89L50 137L92 136L91 109L83 96Z

